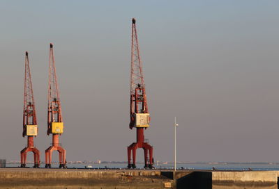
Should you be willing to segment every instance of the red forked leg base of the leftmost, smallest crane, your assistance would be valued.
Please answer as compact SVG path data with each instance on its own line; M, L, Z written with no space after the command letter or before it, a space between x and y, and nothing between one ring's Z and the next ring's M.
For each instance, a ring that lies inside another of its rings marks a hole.
M22 151L20 151L20 161L21 161L20 167L26 167L27 153L29 151L33 152L33 156L34 156L33 167L35 168L40 167L40 151L33 145L33 136L28 136L27 147L25 147L24 149L22 149Z

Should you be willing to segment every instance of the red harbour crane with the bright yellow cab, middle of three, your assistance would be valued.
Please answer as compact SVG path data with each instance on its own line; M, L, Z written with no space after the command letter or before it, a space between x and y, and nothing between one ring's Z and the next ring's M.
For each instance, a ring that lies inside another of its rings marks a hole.
M59 143L59 135L63 133L63 117L61 114L61 101L56 78L52 43L50 43L50 65L48 77L47 135L52 134L52 144L45 150L45 168L51 168L53 151L59 152L59 168L66 168L66 150L63 149Z

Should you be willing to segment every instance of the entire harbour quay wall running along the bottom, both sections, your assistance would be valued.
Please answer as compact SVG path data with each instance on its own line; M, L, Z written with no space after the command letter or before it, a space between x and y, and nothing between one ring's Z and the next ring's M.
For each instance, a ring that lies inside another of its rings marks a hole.
M0 188L277 188L279 171L161 171L0 168Z

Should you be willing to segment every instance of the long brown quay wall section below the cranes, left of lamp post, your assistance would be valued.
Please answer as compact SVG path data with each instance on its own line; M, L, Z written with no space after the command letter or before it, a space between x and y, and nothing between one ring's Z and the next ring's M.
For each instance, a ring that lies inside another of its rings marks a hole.
M0 169L0 188L146 189L175 188L154 170Z

